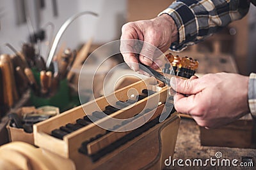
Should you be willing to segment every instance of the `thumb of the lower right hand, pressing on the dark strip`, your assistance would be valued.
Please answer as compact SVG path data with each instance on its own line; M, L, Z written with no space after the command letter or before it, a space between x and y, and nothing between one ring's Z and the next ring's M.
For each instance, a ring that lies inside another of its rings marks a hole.
M199 78L184 80L182 78L172 77L170 85L173 90L181 94L196 94L202 90L199 81Z

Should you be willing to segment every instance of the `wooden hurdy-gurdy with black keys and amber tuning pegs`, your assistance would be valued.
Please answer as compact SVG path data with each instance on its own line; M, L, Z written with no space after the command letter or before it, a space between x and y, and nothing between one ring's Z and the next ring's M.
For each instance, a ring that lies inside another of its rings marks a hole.
M195 74L196 60L166 57L176 75ZM163 72L171 74L169 68ZM173 156L180 122L169 89L151 77L116 90L36 124L35 145L71 159L77 169L163 169L164 160ZM102 128L106 122L107 130ZM134 125L138 128L129 131Z

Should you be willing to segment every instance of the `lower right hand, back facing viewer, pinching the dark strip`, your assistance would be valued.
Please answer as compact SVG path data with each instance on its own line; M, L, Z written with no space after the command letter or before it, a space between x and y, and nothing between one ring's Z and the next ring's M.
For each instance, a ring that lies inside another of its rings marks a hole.
M249 113L248 80L247 76L232 73L192 76L189 80L172 78L171 86L177 91L175 109L191 115L203 127L228 124Z

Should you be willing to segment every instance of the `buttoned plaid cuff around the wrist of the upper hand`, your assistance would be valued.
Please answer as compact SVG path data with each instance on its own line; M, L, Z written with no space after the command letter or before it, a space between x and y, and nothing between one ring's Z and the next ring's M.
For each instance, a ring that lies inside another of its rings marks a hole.
M175 1L166 10L159 13L158 16L167 13L170 15L178 29L178 40L170 46L171 50L181 51L188 45L193 45L198 34L198 24L191 10L184 2Z

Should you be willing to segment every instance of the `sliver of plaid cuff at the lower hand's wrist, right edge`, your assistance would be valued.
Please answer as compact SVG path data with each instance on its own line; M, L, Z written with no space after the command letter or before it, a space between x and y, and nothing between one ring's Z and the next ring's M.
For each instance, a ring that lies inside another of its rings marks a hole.
M248 104L252 117L256 118L256 74L251 73L248 83Z

